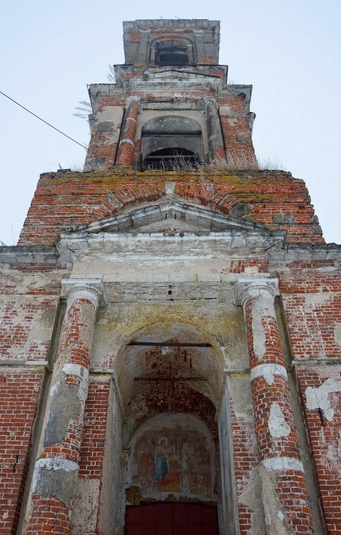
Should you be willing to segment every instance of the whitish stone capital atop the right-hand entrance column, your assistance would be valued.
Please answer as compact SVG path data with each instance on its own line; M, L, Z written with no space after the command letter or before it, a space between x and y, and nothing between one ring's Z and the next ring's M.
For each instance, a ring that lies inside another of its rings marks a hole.
M270 297L275 300L280 295L278 279L275 277L240 277L235 284L235 305L245 306L252 297Z

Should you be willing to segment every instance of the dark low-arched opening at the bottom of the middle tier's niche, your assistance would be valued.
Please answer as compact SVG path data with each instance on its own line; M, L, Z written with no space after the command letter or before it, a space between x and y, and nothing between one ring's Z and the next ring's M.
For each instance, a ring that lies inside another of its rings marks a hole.
M140 170L177 170L178 168L198 168L203 162L198 160L198 156L186 148L168 147L162 148L148 154L143 162L139 164Z

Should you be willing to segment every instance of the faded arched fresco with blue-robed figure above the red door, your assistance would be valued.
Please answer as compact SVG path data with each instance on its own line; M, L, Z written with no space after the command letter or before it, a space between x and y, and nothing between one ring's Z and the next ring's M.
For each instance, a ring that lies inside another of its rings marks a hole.
M180 426L146 430L133 448L131 484L144 495L210 496L211 454L206 437Z

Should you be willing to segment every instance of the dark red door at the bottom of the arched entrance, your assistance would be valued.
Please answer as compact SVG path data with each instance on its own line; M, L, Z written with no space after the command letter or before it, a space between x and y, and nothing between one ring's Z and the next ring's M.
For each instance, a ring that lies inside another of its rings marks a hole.
M126 535L218 535L216 507L150 504L126 509Z

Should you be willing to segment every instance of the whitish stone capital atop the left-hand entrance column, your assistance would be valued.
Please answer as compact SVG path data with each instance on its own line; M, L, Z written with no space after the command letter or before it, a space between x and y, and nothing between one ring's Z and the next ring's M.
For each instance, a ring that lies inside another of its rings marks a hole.
M75 299L89 299L93 306L106 305L102 279L64 279L61 281L61 298L71 305Z

